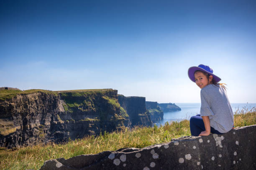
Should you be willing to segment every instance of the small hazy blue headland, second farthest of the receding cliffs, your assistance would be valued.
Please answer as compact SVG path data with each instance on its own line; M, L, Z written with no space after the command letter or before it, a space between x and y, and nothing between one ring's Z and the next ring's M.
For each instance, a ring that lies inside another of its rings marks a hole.
M157 102L146 101L146 109L148 110L153 123L159 120L164 120L164 112L157 105Z

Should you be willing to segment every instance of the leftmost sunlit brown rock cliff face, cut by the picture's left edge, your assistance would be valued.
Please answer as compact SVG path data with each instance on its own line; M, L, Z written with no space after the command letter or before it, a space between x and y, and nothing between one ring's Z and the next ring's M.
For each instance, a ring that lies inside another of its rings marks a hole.
M37 92L0 100L0 146L13 148L51 139L59 96Z

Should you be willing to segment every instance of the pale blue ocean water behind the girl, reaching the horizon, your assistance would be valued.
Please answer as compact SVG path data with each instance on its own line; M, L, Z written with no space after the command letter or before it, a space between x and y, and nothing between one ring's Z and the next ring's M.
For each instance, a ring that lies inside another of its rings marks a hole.
M165 122L189 120L191 116L200 114L201 103L175 103L181 108L181 111L164 112L164 120L156 122L156 125L164 125ZM251 110L256 107L256 103L231 103L232 110L242 110L243 108Z

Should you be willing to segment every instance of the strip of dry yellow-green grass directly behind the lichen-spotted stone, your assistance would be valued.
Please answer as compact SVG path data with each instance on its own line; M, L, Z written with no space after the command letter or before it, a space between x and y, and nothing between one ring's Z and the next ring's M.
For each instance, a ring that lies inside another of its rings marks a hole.
M256 109L237 111L234 115L235 126L256 125ZM71 158L81 154L96 154L105 150L120 148L143 148L157 143L165 143L173 138L191 135L189 121L166 123L161 127L123 128L119 132L104 133L97 137L69 141L62 145L49 143L17 150L0 149L0 169L25 170L39 169L45 160Z

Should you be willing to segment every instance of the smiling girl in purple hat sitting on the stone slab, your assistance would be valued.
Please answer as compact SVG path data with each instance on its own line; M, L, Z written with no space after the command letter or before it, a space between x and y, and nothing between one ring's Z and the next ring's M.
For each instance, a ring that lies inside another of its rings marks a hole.
M190 118L191 135L223 134L234 129L232 107L225 86L218 83L220 77L214 75L209 66L202 64L190 67L188 76L201 88L200 114Z

